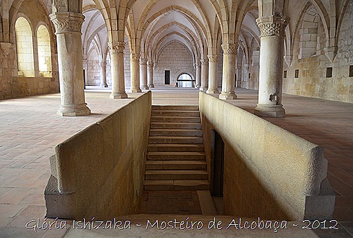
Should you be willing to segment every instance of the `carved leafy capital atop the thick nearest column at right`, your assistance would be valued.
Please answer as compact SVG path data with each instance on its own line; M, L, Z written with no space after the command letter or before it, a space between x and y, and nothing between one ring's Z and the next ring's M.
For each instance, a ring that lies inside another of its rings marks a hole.
M288 25L288 17L260 17L256 19L261 36L284 36L285 27Z

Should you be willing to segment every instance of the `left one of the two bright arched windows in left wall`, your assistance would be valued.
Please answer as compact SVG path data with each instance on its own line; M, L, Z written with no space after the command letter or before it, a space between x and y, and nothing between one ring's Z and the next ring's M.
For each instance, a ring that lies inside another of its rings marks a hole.
M30 23L19 17L14 25L19 76L34 77L33 39Z

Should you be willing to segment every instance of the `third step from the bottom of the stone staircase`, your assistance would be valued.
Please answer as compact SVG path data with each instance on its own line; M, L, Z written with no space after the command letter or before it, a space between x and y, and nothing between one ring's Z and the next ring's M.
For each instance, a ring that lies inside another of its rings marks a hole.
M147 160L146 170L206 170L205 160Z

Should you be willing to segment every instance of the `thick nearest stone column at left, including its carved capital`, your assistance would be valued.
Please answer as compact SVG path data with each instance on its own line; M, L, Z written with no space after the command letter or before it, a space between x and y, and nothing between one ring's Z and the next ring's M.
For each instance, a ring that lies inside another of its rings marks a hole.
M61 116L85 116L91 113L85 103L81 27L85 17L77 12L50 14L57 35Z

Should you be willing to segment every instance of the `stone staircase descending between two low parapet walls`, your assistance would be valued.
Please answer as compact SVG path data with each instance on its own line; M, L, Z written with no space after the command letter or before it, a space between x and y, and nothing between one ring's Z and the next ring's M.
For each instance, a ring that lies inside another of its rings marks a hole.
M209 190L198 106L152 106L144 188Z

